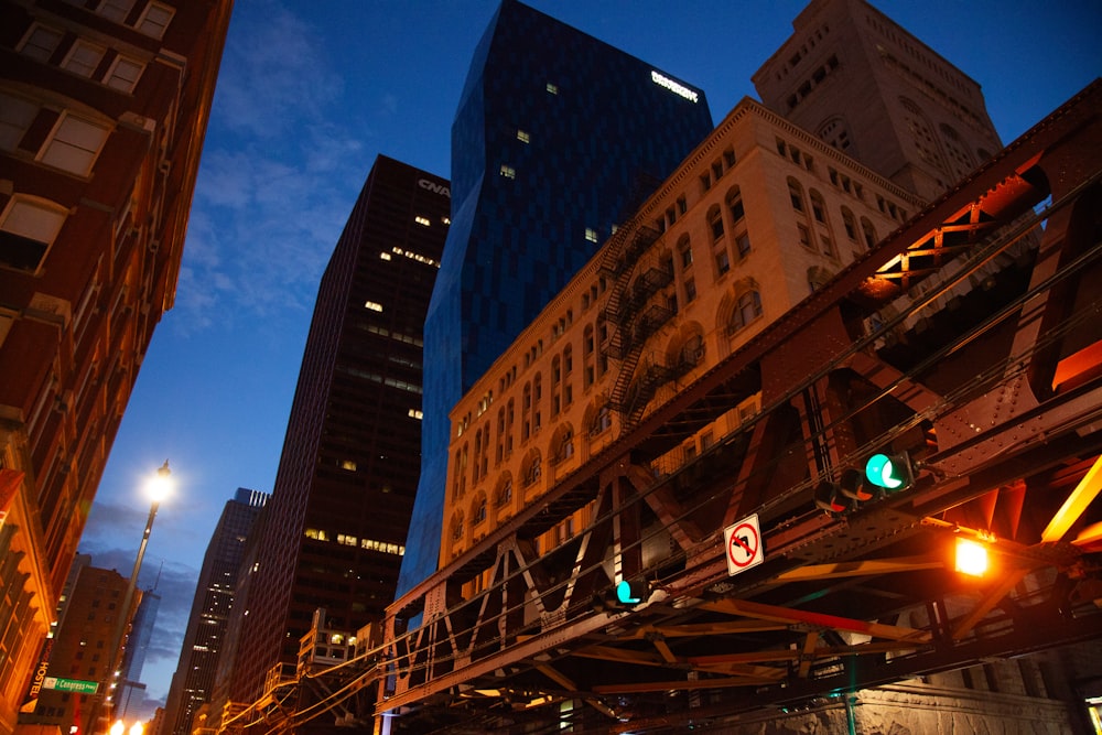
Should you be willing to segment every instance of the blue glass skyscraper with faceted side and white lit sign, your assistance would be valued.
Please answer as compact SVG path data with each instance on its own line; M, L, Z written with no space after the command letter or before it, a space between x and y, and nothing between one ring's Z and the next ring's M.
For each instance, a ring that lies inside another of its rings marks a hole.
M711 130L702 91L504 0L452 126L452 225L425 321L399 594L436 570L451 408Z

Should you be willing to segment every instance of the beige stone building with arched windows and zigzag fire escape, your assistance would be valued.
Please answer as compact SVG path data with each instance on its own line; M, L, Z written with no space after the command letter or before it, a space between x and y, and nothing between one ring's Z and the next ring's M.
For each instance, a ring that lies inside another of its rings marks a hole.
M453 410L441 565L538 502L919 206L744 99ZM749 399L655 471L669 472L757 410ZM540 550L583 529L587 512L548 530Z

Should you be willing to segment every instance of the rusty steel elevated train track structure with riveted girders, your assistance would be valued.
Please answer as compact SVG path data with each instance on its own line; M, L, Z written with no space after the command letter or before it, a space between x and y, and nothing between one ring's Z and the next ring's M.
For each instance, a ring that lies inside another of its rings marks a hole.
M1102 637L1100 117L1095 83L397 601L355 688L374 715L678 732ZM817 505L879 451L910 487ZM765 560L731 575L723 529L750 515ZM994 573L954 572L957 537ZM620 579L647 599L611 603Z

